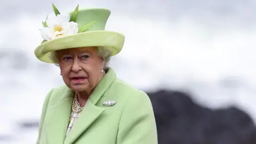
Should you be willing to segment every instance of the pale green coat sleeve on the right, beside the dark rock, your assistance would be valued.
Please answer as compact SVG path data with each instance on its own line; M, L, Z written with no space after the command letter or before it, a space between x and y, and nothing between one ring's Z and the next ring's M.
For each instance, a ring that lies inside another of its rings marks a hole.
M119 122L117 144L157 144L153 107L142 91L127 99Z

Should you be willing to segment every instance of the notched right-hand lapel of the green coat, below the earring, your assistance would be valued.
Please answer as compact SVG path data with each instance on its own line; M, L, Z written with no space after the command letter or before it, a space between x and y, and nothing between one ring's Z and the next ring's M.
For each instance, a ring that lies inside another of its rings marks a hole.
M96 103L115 79L116 74L111 68L109 68L106 75L101 79L98 86L95 87L93 93L87 100L84 109L76 120L75 125L68 133L65 143L73 143L85 130L89 129L89 127L97 121L103 111L105 111L105 108L96 106Z

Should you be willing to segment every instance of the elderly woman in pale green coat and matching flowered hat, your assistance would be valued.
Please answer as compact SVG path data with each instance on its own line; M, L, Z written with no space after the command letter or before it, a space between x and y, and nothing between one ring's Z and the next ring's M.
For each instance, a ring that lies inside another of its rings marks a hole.
M107 9L63 14L53 5L41 29L36 57L60 67L66 85L46 95L36 143L156 144L156 123L148 95L107 67L124 36L106 31Z

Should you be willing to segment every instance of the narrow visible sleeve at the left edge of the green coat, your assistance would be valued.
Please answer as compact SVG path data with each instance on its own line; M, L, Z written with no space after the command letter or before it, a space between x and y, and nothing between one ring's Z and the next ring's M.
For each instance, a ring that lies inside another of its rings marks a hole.
M46 110L47 110L47 106L48 106L48 102L49 102L49 99L50 99L50 95L52 94L53 90L54 89L50 90L47 93L46 98L45 98L44 103L43 103L43 108L42 108L42 112L41 112L41 118L40 118L40 122L39 122L39 126L38 126L38 137L37 137L37 140L36 140L36 144L39 144L39 142L40 142L41 130L42 130L43 123L44 123L44 116L45 116L45 113L46 113Z

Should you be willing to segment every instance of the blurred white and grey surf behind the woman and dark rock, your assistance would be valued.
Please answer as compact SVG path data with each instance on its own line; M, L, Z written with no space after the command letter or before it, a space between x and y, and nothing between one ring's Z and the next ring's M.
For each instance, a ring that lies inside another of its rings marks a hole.
M110 66L124 81L187 92L209 109L234 105L256 121L254 0L9 0L0 5L0 143L35 143L45 95L63 84L59 68L34 55L52 2L60 12L111 10L106 29L126 41Z

